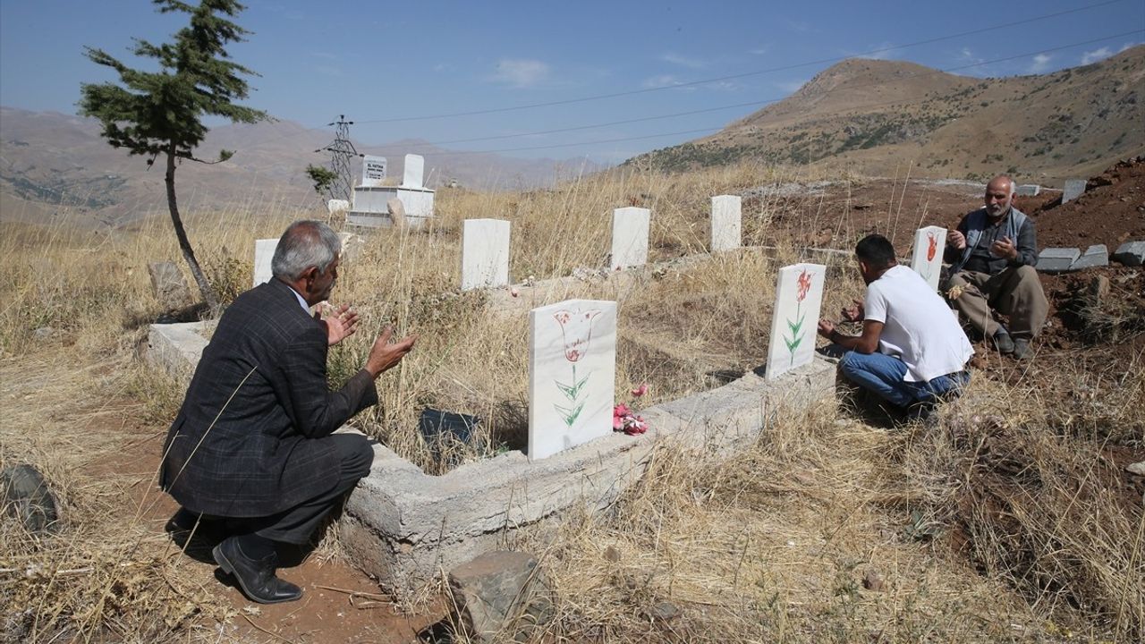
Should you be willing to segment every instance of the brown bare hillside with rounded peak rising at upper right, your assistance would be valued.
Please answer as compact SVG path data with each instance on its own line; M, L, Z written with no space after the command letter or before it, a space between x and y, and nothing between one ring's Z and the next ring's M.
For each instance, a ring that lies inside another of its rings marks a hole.
M1088 176L1145 151L1145 46L1040 76L969 78L898 61L848 60L711 136L630 159L666 170L739 159L924 176L1006 171Z

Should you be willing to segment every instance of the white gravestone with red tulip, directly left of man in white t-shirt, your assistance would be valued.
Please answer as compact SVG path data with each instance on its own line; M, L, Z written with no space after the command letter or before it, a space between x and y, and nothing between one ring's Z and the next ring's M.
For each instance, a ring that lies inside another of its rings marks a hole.
M775 308L772 337L767 346L767 372L774 380L815 358L815 330L823 304L827 267L821 264L795 264L780 268L775 281Z

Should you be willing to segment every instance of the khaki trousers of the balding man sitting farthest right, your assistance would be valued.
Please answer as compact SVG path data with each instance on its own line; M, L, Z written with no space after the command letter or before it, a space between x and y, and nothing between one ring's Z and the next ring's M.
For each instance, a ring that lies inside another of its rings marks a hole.
M1027 339L1042 332L1050 313L1050 303L1033 266L1010 267L997 275L962 270L950 277L949 285L963 289L951 300L954 308L986 336L993 336L1001 325L993 311L1010 316L1011 336Z

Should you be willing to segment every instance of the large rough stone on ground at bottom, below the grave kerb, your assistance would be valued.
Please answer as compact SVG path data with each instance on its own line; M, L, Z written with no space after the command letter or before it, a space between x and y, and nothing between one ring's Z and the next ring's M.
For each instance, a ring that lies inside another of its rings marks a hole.
M526 552L487 552L449 573L453 618L468 642L531 637L553 619L553 590Z

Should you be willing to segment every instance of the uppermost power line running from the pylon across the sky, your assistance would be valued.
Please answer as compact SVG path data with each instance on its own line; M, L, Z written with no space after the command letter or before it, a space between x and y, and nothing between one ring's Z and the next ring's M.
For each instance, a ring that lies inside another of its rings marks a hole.
M788 71L788 70L804 68L804 66L808 66L808 65L819 65L819 64L826 64L826 63L837 63L837 62L845 61L847 58L853 58L853 57L870 56L870 55L875 55L875 54L883 54L883 53L891 52L891 50L894 50L894 49L906 49L908 47L917 47L917 46L921 46L921 45L931 45L931 44L934 44L934 42L941 42L943 40L953 40L953 39L956 39L956 38L964 38L964 37L968 37L968 36L977 36L977 34L980 34L980 33L984 33L984 32L989 32L989 31L997 31L997 30L1003 30L1003 29L1012 29L1013 26L1020 25L1020 24L1029 24L1029 23L1034 23L1034 22L1039 22L1039 21L1049 19L1049 18L1056 18L1056 17L1060 17L1060 16L1076 14L1076 13L1080 13L1080 11L1088 11L1090 9L1097 9L1097 8L1100 8L1100 7L1106 7L1108 5L1116 5L1116 3L1120 3L1120 2L1123 2L1123 1L1124 0L1106 0L1105 2L1098 2L1096 5L1087 5L1084 7L1077 7L1075 9L1066 9L1064 11L1056 11L1056 13L1052 13L1052 14L1044 14L1044 15L1041 15L1041 16L1035 16L1033 18L1026 18L1026 19L1022 19L1022 21L1011 21L1011 22L1006 22L1006 23L997 24L997 25L993 25L993 26L977 28L977 29L973 29L973 30L970 30L970 31L963 31L963 32L953 33L953 34L949 34L949 36L940 36L940 37L929 38L929 39L925 39L925 40L917 40L915 42L908 42L906 45L898 45L898 46L894 46L894 47L882 47L882 48L878 48L878 49L871 49L869 52L863 52L861 54L856 54L856 55L853 55L853 56L837 56L837 57L832 57L832 58L820 58L818 61L808 61L808 62L804 62L804 63L795 63L795 64L790 64L790 65L782 65L782 66L776 66L776 68L769 68L769 69L764 69L764 70L758 70L758 71L749 71L749 72L744 72L744 73L735 73L735 74L729 74L729 76L721 76L721 77L716 77L716 78L705 78L705 79L701 79L701 80L693 80L693 81L689 81L689 83L680 83L680 84L677 84L677 85L668 85L668 86L663 86L663 87L646 87L646 88L642 88L642 89L630 89L630 91L625 91L625 92L614 92L614 93L610 93L610 94L597 94L597 95L593 95L593 96L582 96L582 97L578 97L578 99L564 99L564 100L561 100L561 101L548 101L548 102L544 102L544 103L529 103L529 104L524 104L524 105L511 105L511 107L504 107L504 108L490 108L490 109L485 109L485 110L471 110L471 111L464 111L464 112L450 112L450 113L440 113L440 115L429 115L429 116L411 116L411 117L397 117L397 118L382 118L382 119L372 119L372 120L360 120L357 123L358 124L363 124L363 125L365 125L365 124L381 124L381 123L406 123L406 121L412 121L412 120L432 120L432 119L440 119L440 118L455 118L455 117L461 117L461 116L479 116L479 115L508 112L508 111L518 111L518 110L529 110L529 109L536 109L536 108L548 108L548 107L554 107L554 105L568 105L568 104L572 104L572 103L585 103L585 102L589 102L589 101L600 101L600 100L605 100L605 99L616 99L616 97L619 97L619 96L632 96L632 95L637 95L637 94L647 94L647 93L652 93L652 92L663 92L665 89L676 89L676 88L680 88L680 87L694 87L696 85L705 85L705 84L709 84L709 83L719 83L721 80L734 80L734 79L737 79L737 78L747 78L747 77L750 77L750 76L759 76L759 74L772 73L772 72L776 72L776 71Z

